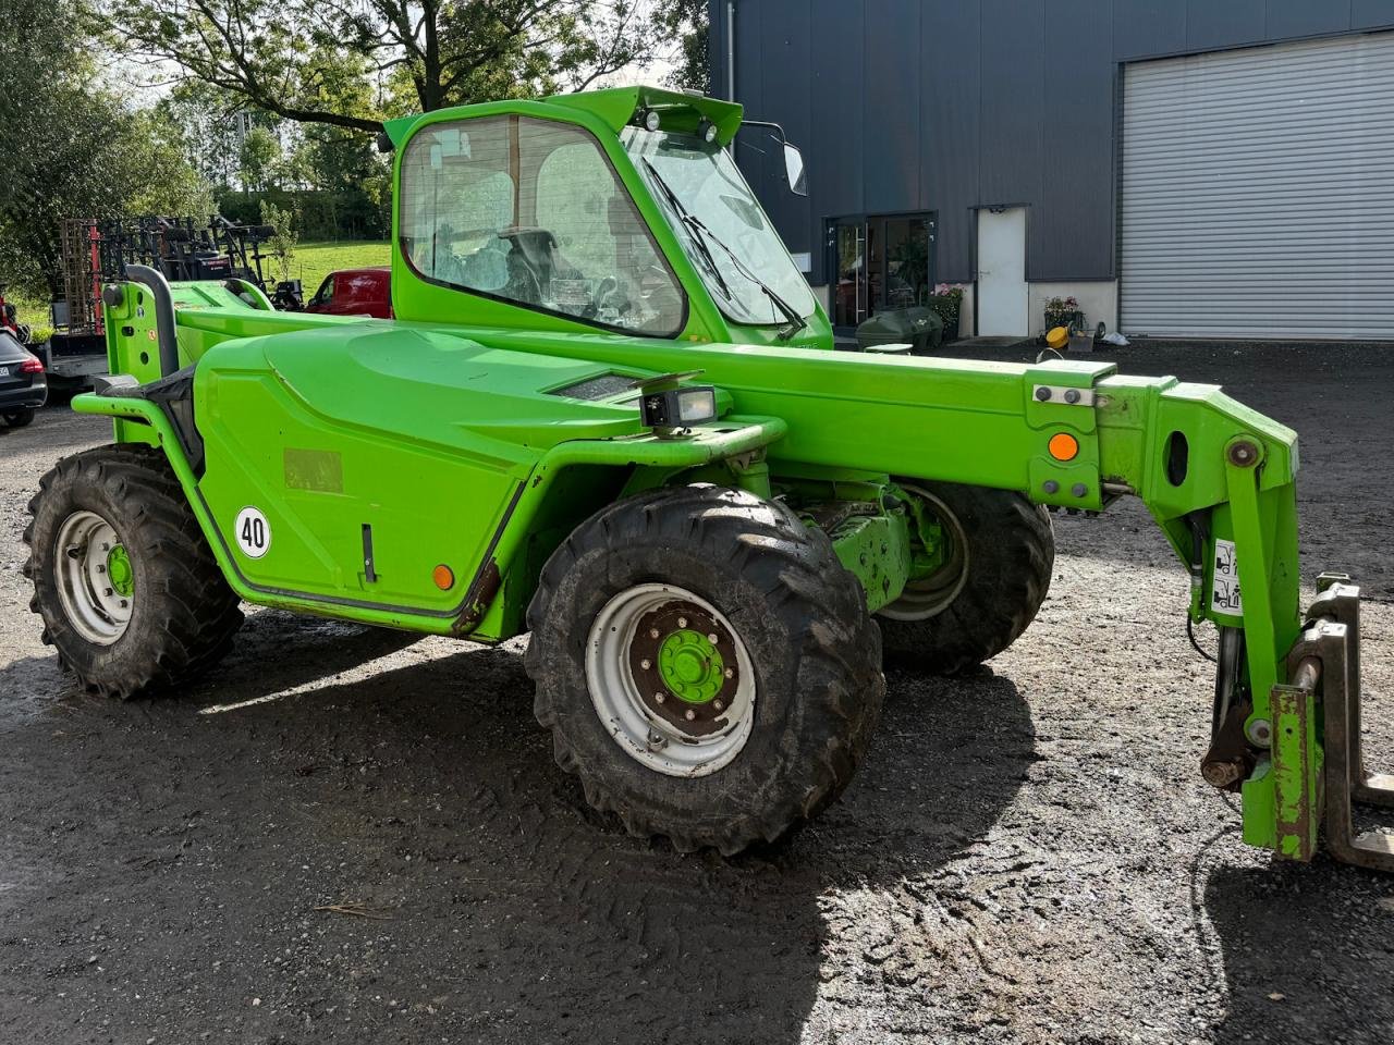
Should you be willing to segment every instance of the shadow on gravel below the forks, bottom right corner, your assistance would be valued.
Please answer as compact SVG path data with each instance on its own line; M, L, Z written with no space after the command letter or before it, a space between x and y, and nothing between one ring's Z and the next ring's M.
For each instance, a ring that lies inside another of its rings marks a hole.
M1394 1039L1388 883L1319 857L1211 872L1204 908L1228 986L1216 1041Z

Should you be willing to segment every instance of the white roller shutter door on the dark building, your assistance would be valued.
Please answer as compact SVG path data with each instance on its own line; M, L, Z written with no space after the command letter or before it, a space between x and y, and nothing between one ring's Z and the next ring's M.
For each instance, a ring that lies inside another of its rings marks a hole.
M1394 33L1124 74L1119 326L1394 339Z

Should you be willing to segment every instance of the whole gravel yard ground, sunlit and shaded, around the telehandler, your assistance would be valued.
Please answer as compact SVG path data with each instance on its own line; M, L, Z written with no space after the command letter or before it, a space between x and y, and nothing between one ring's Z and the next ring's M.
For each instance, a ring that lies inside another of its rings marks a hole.
M1362 580L1387 692L1394 353L1119 358L1299 429L1303 573ZM39 474L105 438L63 410L0 431L0 1041L1394 1037L1394 878L1239 843L1197 773L1186 577L1136 504L1059 518L1032 630L966 681L891 674L843 800L722 861L587 810L517 641L256 612L183 699L75 692L20 531Z

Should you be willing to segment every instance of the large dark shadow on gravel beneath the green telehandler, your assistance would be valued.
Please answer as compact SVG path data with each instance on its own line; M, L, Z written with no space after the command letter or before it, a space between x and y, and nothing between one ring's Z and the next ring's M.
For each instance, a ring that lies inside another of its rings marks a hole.
M514 647L198 713L209 695L294 688L302 645L234 663L256 684L229 679L192 705L79 698L21 725L0 769L29 791L11 811L17 861L64 868L45 903L0 896L8 932L64 939L96 920L128 954L107 963L123 996L160 998L170 966L217 960L216 977L181 981L178 1039L201 1013L237 1012L256 1041L795 1042L820 988L836 993L825 981L856 964L839 928L855 910L828 897L913 918L1036 757L1008 680L892 674L867 764L820 821L736 860L682 856L585 805L533 720ZM92 782L120 782L120 800ZM332 904L351 910L316 910ZM938 959L874 960L880 977ZM14 995L57 1028L77 1002L43 967L17 970ZM130 1019L110 993L82 1005Z

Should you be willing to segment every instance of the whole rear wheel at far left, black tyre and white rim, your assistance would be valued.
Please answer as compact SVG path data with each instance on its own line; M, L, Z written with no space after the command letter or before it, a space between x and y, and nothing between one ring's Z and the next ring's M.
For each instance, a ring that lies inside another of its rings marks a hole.
M39 481L24 531L29 609L89 691L128 699L192 679L243 623L164 454L103 446Z

